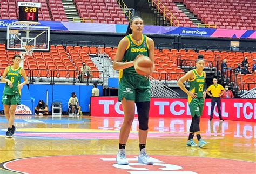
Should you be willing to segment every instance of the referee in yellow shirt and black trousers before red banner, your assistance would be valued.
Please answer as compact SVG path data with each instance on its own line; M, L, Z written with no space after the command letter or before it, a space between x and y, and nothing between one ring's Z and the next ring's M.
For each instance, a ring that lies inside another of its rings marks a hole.
M212 121L212 116L213 116L213 110L215 107L215 104L217 103L217 108L218 108L218 113L219 113L219 118L221 121L224 121L222 116L221 116L221 111L220 111L220 96L223 95L225 92L224 88L222 85L217 83L217 78L213 78L213 84L209 86L209 88L206 90L207 94L211 96L212 98L212 106L211 106L211 117L210 121ZM211 91L212 94L209 92Z

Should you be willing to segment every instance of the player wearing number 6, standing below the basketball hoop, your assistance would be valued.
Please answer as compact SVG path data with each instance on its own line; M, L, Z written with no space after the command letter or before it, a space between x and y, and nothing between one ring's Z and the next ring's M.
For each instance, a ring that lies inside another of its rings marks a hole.
M17 105L21 104L21 89L28 83L25 70L19 67L21 61L20 55L12 57L12 65L5 68L2 82L6 82L3 91L2 104L4 105L4 114L8 120L8 130L6 137L12 137L15 134L16 128L14 126L15 110ZM21 83L21 77L24 82Z

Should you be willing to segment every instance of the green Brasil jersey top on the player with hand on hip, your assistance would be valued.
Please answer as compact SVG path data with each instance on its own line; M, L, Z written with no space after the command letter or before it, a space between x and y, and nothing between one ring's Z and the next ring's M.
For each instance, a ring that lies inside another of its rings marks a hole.
M205 84L205 72L202 71L202 74L199 75L196 69L192 70L194 73L194 78L188 80L190 84L190 91L197 93L197 98L203 97L204 84ZM188 96L188 103L190 103L190 96ZM192 98L191 98L192 99Z

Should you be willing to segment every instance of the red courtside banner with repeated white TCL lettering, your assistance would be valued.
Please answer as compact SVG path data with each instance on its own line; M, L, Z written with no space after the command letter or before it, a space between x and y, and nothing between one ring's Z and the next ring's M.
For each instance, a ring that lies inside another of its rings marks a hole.
M221 99L224 120L256 122L256 99ZM137 109L135 111L137 114ZM205 100L203 118L210 118L211 99ZM123 109L117 97L91 97L91 116L123 117ZM213 116L217 118L215 106ZM191 117L185 98L151 98L150 117Z

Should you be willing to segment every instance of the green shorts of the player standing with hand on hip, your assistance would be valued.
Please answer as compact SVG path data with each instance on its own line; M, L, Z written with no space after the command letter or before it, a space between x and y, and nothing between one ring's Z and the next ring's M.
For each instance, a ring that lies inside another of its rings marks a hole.
M205 99L203 97L192 99L192 101L188 104L190 106L190 113L192 117L194 117L194 115L197 115L198 117L202 115L204 102Z

